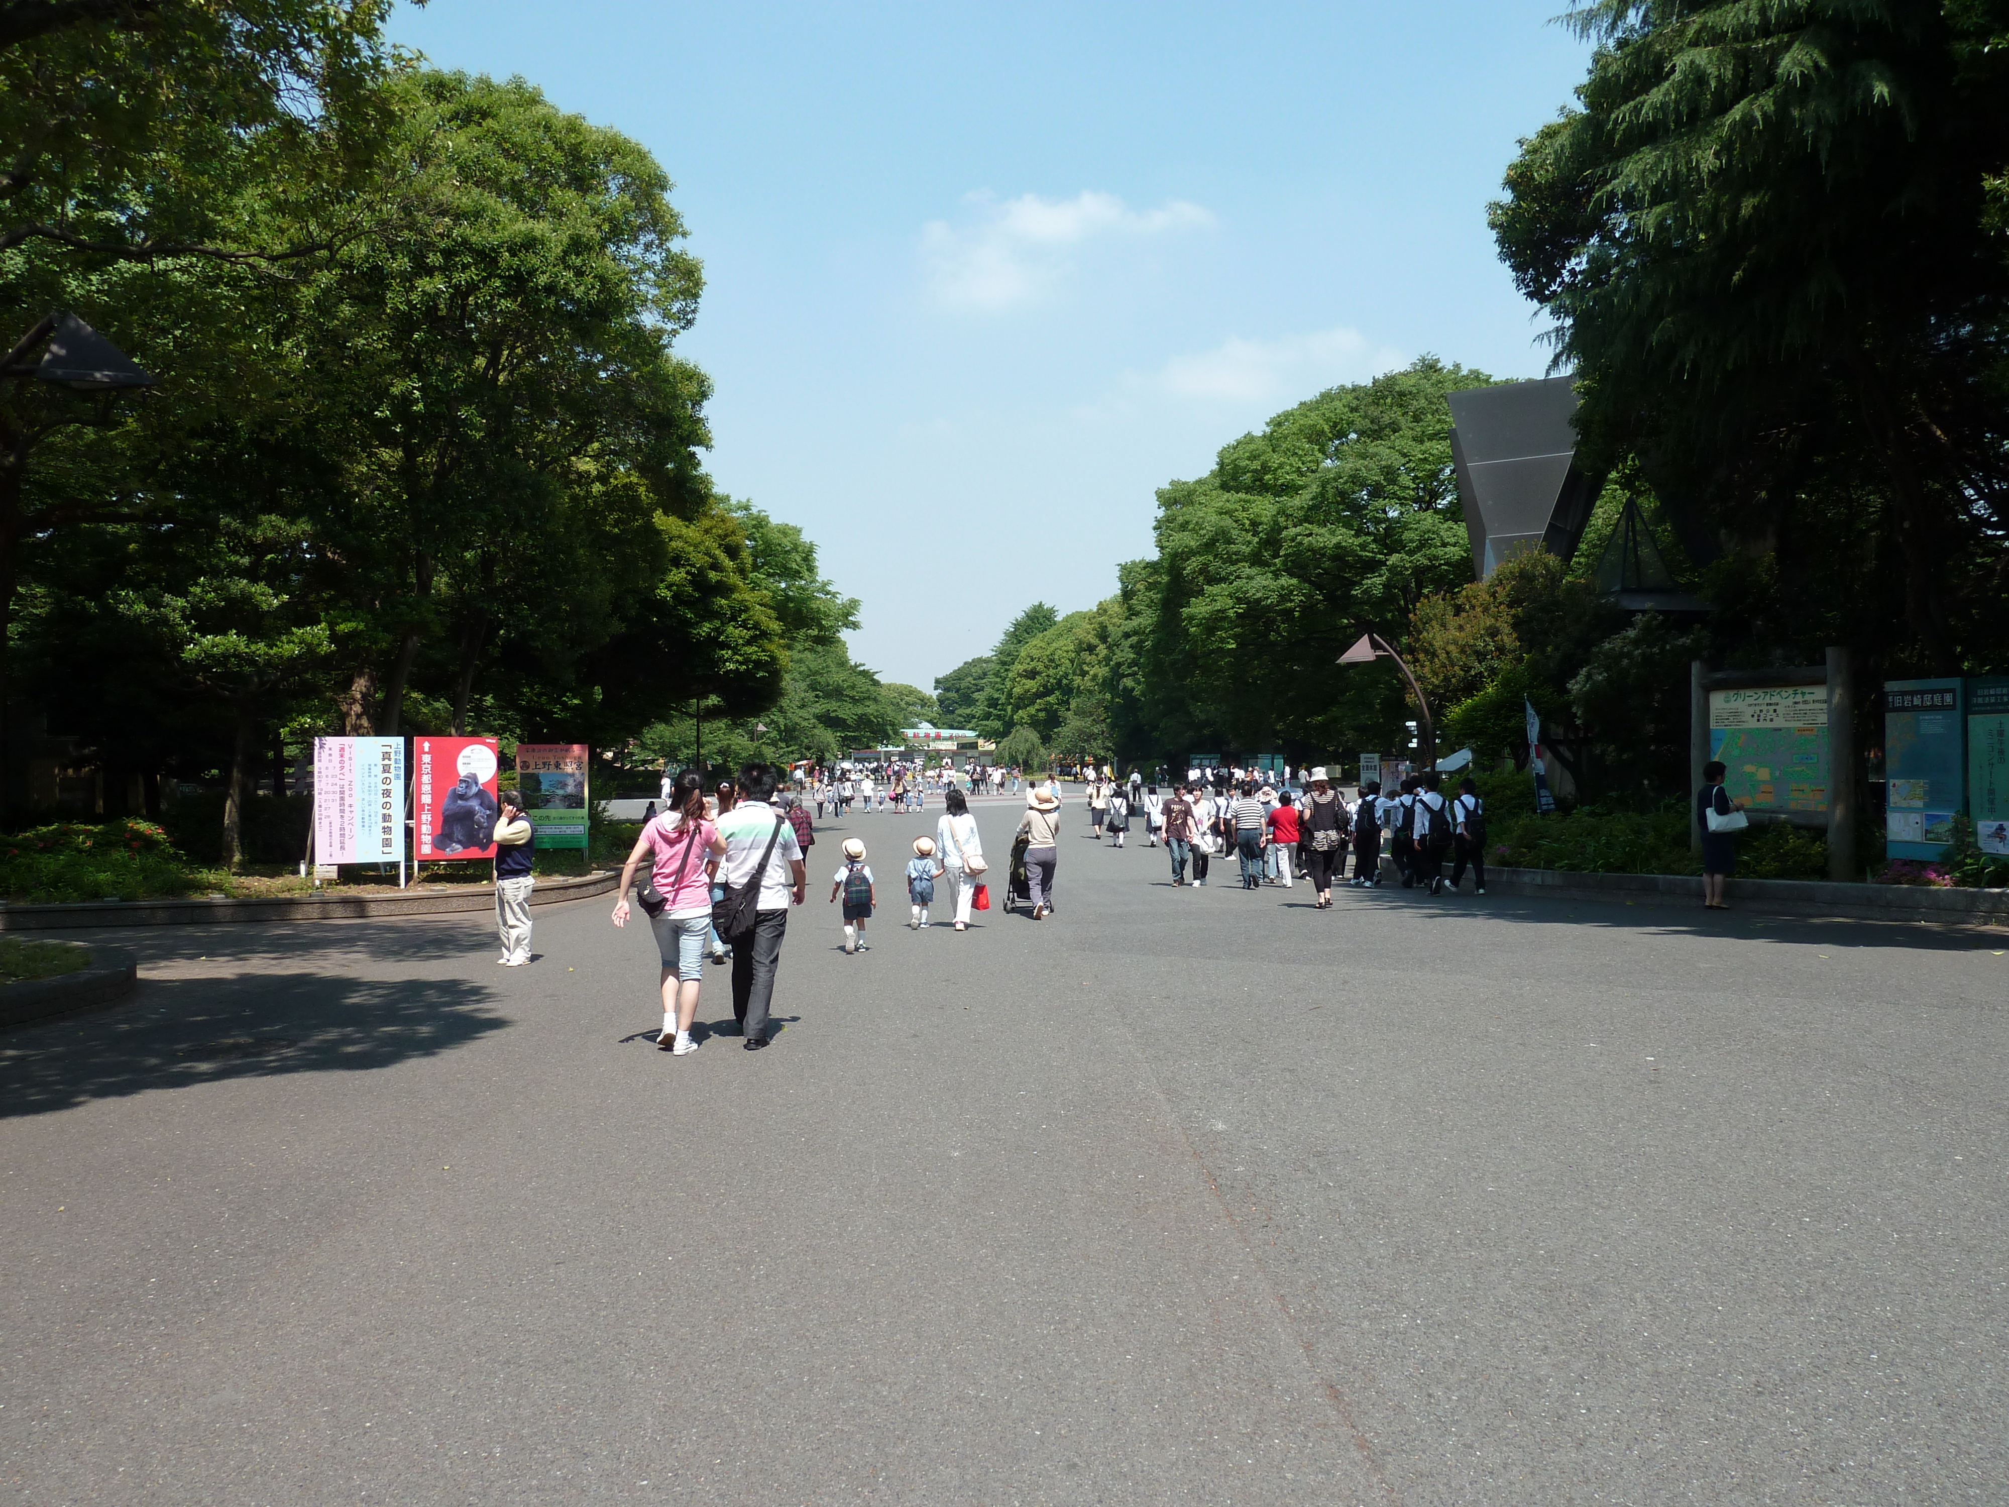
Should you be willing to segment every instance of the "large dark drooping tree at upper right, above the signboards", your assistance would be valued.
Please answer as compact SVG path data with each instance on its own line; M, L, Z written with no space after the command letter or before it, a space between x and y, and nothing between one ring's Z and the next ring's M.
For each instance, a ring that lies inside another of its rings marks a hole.
M1589 76L1493 229L1557 321L1587 446L1637 452L1692 555L1724 557L1714 595L1760 615L1754 649L2001 659L2009 6L1597 0L1573 22Z

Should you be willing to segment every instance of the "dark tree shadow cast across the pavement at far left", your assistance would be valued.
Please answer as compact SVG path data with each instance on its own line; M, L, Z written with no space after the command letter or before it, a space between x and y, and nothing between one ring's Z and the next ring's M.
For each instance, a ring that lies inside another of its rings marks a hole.
M460 979L143 981L121 1007L0 1037L0 1117L281 1073L364 1073L508 1025Z

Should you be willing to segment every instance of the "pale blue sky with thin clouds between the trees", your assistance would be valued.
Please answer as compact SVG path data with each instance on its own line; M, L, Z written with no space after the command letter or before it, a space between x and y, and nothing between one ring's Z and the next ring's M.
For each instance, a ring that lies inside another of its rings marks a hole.
M1583 76L1563 8L432 0L394 36L655 153L711 474L930 685L1111 595L1157 486L1320 388L1543 374L1485 203Z

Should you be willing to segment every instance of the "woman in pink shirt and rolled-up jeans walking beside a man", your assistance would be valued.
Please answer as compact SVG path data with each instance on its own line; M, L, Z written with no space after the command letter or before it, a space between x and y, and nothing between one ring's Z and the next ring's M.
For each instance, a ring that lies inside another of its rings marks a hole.
M671 782L669 810L649 822L621 866L615 894L615 926L629 922L629 888L647 858L651 894L643 896L649 930L655 932L657 991L663 997L663 1029L655 1045L685 1057L697 1051L691 1023L697 1019L697 991L705 979L705 932L711 930L711 878L705 866L725 852L719 828L705 820L705 788L695 772Z

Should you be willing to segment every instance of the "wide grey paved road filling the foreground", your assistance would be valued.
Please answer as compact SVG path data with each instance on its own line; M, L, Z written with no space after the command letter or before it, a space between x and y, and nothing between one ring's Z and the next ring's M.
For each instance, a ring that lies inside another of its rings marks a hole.
M0 1037L12 1499L2009 1497L2003 936L1071 836L848 958L840 836L759 1055L603 902L137 932Z

